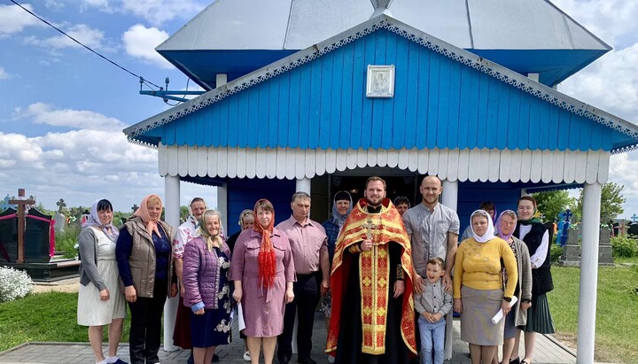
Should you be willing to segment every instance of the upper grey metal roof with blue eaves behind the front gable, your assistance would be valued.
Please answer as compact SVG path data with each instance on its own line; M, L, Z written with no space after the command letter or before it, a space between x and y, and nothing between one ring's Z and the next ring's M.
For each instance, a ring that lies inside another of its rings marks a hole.
M549 0L217 0L156 50L214 89L381 12L549 86L611 50Z

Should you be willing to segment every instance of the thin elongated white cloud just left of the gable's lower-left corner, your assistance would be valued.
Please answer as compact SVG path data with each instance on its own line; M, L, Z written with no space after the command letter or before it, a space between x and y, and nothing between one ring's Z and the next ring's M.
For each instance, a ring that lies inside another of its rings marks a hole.
M54 127L86 128L92 130L121 131L126 125L115 118L87 110L60 109L44 103L27 106L26 110L17 110L18 118L32 119L35 124L47 124Z

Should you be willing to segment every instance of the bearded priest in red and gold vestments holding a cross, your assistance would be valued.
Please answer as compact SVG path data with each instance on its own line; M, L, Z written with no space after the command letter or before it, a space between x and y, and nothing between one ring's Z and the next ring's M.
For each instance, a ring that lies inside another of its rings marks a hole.
M416 355L412 258L401 215L370 177L338 236L326 352L336 363L408 363Z

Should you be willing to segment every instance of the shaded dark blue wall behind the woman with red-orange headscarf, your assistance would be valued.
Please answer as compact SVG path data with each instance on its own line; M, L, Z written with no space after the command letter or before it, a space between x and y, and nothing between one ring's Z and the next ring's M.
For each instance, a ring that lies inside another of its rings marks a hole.
M239 214L245 209L253 209L255 202L266 198L275 207L275 225L291 216L290 201L295 193L294 180L270 180L267 178L252 180L232 179L228 182L228 235L239 231Z

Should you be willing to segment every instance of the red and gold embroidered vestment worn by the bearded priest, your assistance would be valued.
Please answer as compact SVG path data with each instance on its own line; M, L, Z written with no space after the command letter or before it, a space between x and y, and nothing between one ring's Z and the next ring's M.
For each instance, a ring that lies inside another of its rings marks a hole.
M368 252L360 252L359 244L369 234L373 248ZM400 262L397 261L393 267L390 266L391 244L397 244L394 246L400 251ZM393 284L391 276L396 276L398 265L401 264L405 283L399 313L401 339L408 350L416 354L411 254L401 215L389 199L384 199L380 213L369 213L365 199L354 205L338 236L332 262L332 313L326 352L335 354L340 344L338 337L341 315L347 312L344 305L361 305L361 319L358 321L362 325L361 352L372 355L385 354L388 301L393 299L393 287L388 285ZM347 287L346 284L352 264L359 266L359 287ZM361 302L344 302L346 290L360 290Z

